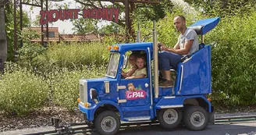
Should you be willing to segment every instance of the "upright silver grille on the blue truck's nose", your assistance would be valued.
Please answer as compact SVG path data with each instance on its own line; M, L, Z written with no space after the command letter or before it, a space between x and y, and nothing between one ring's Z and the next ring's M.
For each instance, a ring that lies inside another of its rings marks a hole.
M80 80L80 102L87 102L87 80Z

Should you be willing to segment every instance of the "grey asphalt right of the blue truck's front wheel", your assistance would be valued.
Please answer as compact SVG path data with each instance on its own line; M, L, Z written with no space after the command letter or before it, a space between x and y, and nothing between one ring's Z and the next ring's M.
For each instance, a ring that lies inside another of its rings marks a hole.
M144 127L141 130L124 130L119 135L256 135L256 121L247 123L215 124L208 125L203 131L190 131L186 127L179 127L176 130L166 131L160 126Z

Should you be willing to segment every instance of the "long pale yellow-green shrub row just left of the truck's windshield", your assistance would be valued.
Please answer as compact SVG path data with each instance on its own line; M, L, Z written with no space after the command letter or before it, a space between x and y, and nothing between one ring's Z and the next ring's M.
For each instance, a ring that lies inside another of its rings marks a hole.
M59 67L104 65L108 60L107 45L100 42L50 44L47 52L50 62Z

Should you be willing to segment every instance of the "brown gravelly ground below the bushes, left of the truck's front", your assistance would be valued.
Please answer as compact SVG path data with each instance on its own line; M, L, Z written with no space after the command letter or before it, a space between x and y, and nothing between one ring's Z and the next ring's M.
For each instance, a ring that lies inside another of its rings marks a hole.
M51 126L52 117L62 119L62 123L82 122L75 112L68 111L65 108L44 107L23 117L4 115L3 113L0 113L0 132L40 126Z

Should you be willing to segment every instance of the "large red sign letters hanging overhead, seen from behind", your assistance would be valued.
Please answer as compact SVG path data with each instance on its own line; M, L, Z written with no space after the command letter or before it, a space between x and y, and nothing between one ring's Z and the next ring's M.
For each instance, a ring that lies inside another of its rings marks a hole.
M40 11L40 24L56 22L57 20L77 19L80 9L54 9ZM108 20L118 23L119 8L83 9L84 19Z

